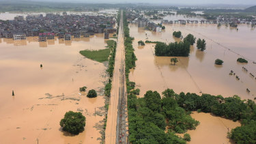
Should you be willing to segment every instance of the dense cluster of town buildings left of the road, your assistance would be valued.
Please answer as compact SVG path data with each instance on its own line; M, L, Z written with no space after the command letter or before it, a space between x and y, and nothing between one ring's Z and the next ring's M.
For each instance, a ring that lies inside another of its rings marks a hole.
M38 37L39 42L53 40L55 37L64 40L82 38L104 33L104 38L109 38L109 33L115 33L115 16L88 16L76 14L46 14L43 16L31 15L16 16L14 20L0 21L0 38L26 40L27 37Z

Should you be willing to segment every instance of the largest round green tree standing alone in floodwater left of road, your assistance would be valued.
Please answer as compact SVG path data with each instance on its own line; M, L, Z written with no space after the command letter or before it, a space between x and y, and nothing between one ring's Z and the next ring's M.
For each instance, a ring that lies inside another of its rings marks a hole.
M85 130L85 116L80 112L69 111L61 119L59 124L63 131L70 132L71 134L79 134L79 132Z

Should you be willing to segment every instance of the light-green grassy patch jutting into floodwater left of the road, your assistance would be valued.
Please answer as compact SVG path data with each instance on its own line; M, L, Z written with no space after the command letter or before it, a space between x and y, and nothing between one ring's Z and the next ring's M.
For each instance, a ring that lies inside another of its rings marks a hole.
M81 53L81 55L87 57L88 59L92 59L94 61L102 63L103 61L108 60L110 51L110 48L105 48L103 50L98 51L84 50L80 51L79 53Z

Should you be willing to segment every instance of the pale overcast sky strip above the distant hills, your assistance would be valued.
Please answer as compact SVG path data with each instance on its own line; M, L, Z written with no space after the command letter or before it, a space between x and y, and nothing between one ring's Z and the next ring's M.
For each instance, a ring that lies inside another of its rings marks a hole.
M44 0L42 0L44 1ZM49 1L49 0L47 0ZM55 1L76 1L87 3L170 3L170 4L230 4L230 5L256 5L256 0L55 0Z

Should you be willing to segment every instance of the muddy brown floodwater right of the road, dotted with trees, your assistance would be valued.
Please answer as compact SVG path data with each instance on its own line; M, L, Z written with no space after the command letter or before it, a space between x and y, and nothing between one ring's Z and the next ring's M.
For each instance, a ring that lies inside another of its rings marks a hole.
M249 25L238 25L238 31L233 28L207 24L188 24L188 25L165 25L166 29L161 33L153 31L145 31L138 28L137 25L129 25L130 35L134 37L133 47L137 56L136 68L130 70L130 81L137 84L137 88L141 89L139 97L142 97L148 90L156 90L162 93L167 88L173 89L176 93L190 92L201 95L202 93L210 93L212 95L222 95L229 97L238 95L242 99L252 99L256 96L256 80L250 73L256 74L256 30L251 29ZM182 35L188 33L195 35L196 38L204 38L206 40L206 50L198 51L196 44L190 47L189 57L177 57L178 62L175 66L171 65L171 57L156 57L154 55L155 44L145 44L138 46L139 40L151 40L161 42L177 42L177 38L173 38L173 31L182 31ZM237 63L238 57L246 57L249 59L247 64ZM223 59L223 66L214 65L215 59ZM248 69L244 72L242 67ZM239 76L230 76L229 72L233 70ZM250 89L251 93L247 93L246 89ZM227 128L223 128L221 122L214 122L213 127L220 128L218 130L209 131L210 128L206 121L218 121L216 117L210 114L193 114L195 119L201 121L201 126L197 130L191 132L192 142L195 143L212 143L216 139L216 143L226 143ZM220 118L221 119L221 118ZM233 125L231 120L223 120L231 128L238 126ZM197 141L200 134L205 132L205 141ZM210 132L210 133L209 133ZM217 139L221 134L223 137ZM193 140L194 139L194 140ZM214 141L215 142L215 141Z

